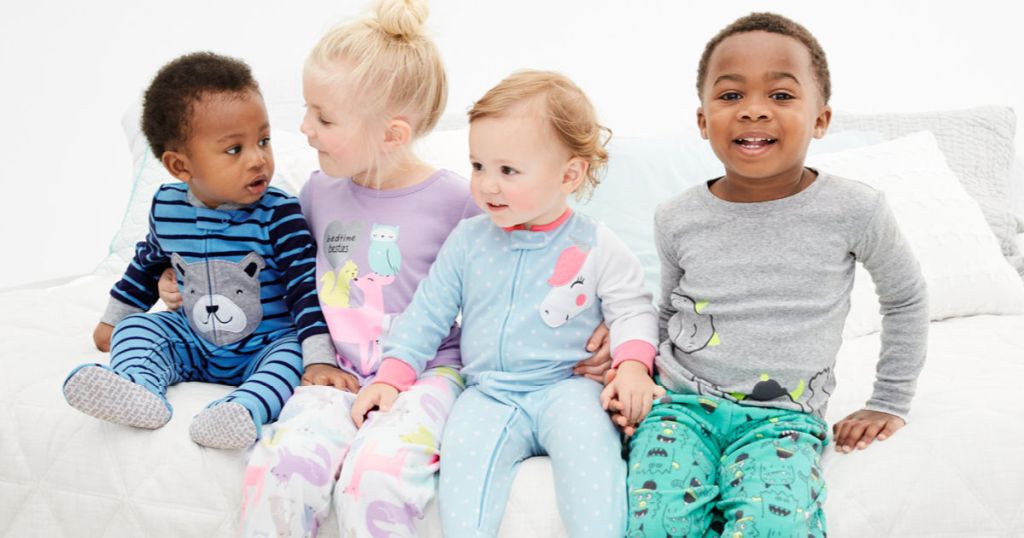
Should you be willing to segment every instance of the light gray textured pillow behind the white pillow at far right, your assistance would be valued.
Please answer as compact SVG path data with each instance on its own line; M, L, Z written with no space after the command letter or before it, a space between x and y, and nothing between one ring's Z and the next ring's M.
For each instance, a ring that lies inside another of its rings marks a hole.
M1017 218L1011 196L1011 166L1017 117L1007 107L913 114L836 113L829 131L877 131L886 139L918 131L935 134L946 163L981 206L1007 261L1024 277L1024 255L1017 247ZM1021 230L1024 232L1024 230Z

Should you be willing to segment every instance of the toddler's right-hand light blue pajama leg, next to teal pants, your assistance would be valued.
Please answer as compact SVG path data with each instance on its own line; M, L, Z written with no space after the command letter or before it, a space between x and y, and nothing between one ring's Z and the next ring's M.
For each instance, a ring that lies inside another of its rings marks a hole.
M570 377L544 391L537 427L551 456L562 523L571 537L620 538L626 530L622 437L601 409L601 385Z

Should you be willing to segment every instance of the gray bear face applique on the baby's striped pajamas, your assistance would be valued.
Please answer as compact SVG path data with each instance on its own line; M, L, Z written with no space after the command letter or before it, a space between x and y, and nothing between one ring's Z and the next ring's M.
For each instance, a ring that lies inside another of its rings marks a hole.
M234 343L263 321L259 272L263 258L250 252L242 261L213 259L185 263L178 254L171 264L183 283L181 297L188 325L214 345Z

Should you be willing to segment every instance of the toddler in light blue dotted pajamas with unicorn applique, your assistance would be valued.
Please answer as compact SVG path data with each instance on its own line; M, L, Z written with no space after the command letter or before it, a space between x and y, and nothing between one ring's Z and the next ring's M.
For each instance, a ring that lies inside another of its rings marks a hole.
M441 441L445 536L496 536L516 466L538 455L552 459L570 536L624 535L620 434L602 409L601 385L572 375L602 316L617 380L632 369L649 379L657 339L636 256L566 204L597 183L605 131L586 95L555 73L514 74L474 105L470 191L485 214L449 236L387 333L377 378L352 406L358 420L415 386L462 311L467 388ZM649 408L657 387L624 381L609 390Z

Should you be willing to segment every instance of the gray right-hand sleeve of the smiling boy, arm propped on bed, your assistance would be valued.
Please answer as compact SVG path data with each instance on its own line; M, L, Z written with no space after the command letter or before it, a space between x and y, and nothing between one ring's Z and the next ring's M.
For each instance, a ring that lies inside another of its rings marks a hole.
M880 194L853 253L871 275L882 314L874 390L865 409L906 420L928 346L928 293L913 252Z

